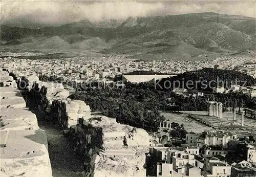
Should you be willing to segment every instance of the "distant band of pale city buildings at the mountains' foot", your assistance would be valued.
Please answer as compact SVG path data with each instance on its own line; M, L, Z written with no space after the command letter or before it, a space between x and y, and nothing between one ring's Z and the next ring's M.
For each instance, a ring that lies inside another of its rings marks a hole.
M6 55L6 53L1 55ZM84 58L31 60L5 57L3 62L4 67L10 71L15 70L20 76L58 75L64 80L77 80L77 82L114 78L117 75L133 71L152 71L177 75L187 71L214 67L225 70L236 69L236 71L256 77L254 58L231 56L218 57L213 61L208 59L200 61L127 61L122 58L105 57L97 60L86 60Z

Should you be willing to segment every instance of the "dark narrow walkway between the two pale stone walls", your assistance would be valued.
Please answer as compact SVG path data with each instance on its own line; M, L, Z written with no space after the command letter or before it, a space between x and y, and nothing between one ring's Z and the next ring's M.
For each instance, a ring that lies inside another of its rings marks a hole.
M46 131L53 177L83 176L83 162L79 160L60 128L40 119L38 125Z

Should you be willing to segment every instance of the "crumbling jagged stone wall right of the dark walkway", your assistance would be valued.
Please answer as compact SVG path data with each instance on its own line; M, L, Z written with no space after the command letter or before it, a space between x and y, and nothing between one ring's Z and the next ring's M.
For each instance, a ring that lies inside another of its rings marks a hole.
M47 86L46 94L37 94L41 96L38 109L44 107L41 103L47 98L48 105L41 111L48 113L42 114L66 129L74 150L84 159L84 176L146 176L145 153L150 138L144 129L92 116L86 103L67 98L69 94L63 88L50 88L57 90L52 93ZM58 95L61 92L66 95Z

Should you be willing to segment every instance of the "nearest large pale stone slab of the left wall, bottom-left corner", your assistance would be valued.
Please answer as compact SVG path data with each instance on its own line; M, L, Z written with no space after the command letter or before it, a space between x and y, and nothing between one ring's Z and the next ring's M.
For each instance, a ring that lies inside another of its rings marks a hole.
M44 130L0 131L0 135L6 146L1 148L1 168L8 176L52 176Z

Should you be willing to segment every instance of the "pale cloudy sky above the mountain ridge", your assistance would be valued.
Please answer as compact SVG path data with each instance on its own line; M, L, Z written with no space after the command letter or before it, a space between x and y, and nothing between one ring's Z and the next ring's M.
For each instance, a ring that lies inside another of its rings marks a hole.
M180 1L73 1L73 0L2 0L1 24L13 26L62 25L89 19L102 21L216 12L256 17L255 0L180 0Z

